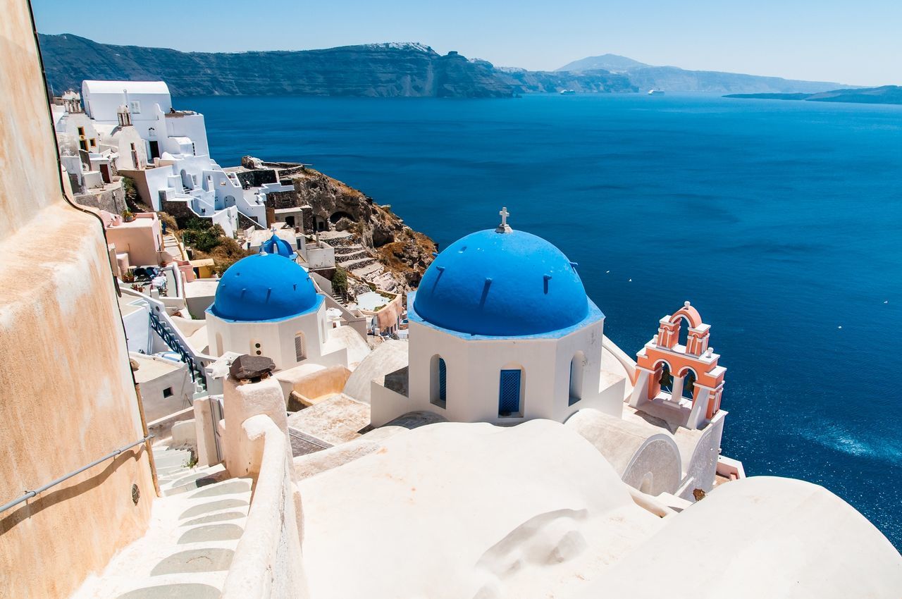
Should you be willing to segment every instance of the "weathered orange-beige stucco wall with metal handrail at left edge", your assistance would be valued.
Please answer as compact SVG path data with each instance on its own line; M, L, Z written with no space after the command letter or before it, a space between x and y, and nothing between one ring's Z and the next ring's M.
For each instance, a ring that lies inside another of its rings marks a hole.
M28 5L0 4L0 503L143 436L100 222L62 198ZM132 484L141 498L134 505ZM0 513L0 596L68 596L146 528L143 447Z

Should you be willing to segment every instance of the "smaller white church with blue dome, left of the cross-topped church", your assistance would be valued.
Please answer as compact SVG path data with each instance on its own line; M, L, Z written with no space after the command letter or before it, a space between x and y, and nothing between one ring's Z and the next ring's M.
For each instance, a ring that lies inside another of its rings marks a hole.
M207 309L210 353L265 355L279 370L308 360L346 365L344 347L327 351L325 298L278 242L268 243L272 253L264 244L260 253L230 266L219 281Z

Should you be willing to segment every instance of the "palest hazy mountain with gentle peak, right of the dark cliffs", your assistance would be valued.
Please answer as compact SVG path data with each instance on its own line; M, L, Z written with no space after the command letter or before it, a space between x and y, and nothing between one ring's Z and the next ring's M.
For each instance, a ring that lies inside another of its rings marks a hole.
M588 73L605 69L626 73L641 90L652 88L665 91L712 91L720 93L815 93L845 88L841 83L799 81L779 77L761 77L714 70L686 70L678 67L655 67L616 54L590 56L564 65L555 72Z

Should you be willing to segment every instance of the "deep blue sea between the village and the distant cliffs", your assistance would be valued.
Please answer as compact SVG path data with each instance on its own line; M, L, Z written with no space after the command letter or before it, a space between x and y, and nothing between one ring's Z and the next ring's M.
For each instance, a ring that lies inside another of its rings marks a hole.
M823 484L902 548L902 106L708 95L192 97L213 157L312 163L441 246L579 263L635 354L686 299L727 367L723 453ZM829 523L825 523L828 525Z

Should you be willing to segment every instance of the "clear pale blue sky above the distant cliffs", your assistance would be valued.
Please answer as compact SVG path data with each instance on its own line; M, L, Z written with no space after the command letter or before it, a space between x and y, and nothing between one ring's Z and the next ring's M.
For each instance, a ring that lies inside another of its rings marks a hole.
M181 51L421 41L441 53L526 69L612 52L684 69L902 84L902 0L32 0L32 6L42 33Z

